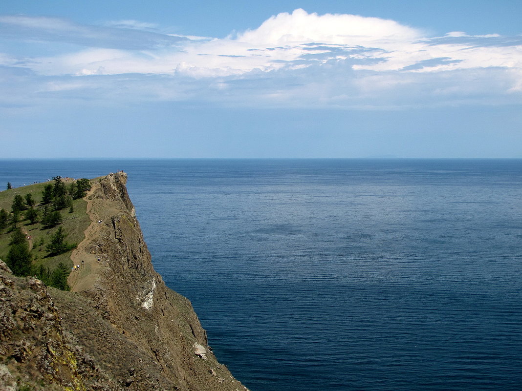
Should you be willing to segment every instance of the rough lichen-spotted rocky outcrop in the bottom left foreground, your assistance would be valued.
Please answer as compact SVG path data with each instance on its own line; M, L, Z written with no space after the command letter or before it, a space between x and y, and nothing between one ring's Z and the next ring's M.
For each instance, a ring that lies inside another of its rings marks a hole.
M0 389L120 390L60 315L39 279L14 277L0 261Z

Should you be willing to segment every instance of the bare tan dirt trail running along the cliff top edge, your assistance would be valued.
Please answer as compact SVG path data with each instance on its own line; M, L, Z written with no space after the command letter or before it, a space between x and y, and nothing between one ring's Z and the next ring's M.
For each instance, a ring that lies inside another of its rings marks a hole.
M101 228L99 219L94 213L93 200L89 199L89 196L94 192L98 184L93 184L91 190L87 192L85 200L87 201L87 214L91 219L91 224L84 231L85 239L82 240L78 247L73 250L70 255L70 259L73 261L75 266L79 265L77 270L70 272L69 278L67 279L70 290L73 292L79 292L92 287L94 282L98 279L99 272L103 267L103 261L98 259L102 258L101 254L91 254L87 252L86 246L90 242L90 238L97 234L97 231ZM83 261L83 264L82 264Z

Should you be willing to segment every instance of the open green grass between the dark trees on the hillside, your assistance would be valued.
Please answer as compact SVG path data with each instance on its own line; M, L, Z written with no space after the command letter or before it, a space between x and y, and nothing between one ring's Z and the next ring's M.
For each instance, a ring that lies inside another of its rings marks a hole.
M16 189L4 190L0 192L0 207L5 209L7 212L11 211L11 205L13 205L13 200L17 194L20 194L24 197L26 194L31 193L32 198L36 201L37 209L40 212L39 218L41 218L43 206L40 206L40 202L42 200L42 190L45 185L52 184L53 181L44 182L35 185L23 186ZM66 187L70 184L70 182L66 182ZM89 216L87 215L87 202L83 199L73 200L73 213L68 213L69 208L65 208L60 211L62 215L63 222L57 227L50 229L43 229L43 226L40 222L31 224L29 220L24 220L18 223L18 226L22 228L23 232L27 232L27 235L32 236L33 248L31 250L31 254L33 255L33 263L36 265L43 264L53 270L56 265L60 262L65 263L69 267L73 266L73 262L70 260L70 251L64 254L56 255L48 257L48 252L45 250L45 245L37 246L40 242L40 239L43 238L45 244L49 242L49 239L52 234L58 229L59 226L62 226L65 232L67 233L66 241L69 243L79 243L84 240L84 230L90 224ZM22 218L23 212L21 213ZM8 243L11 237L10 227L0 230L0 259L5 259L7 252L9 251Z

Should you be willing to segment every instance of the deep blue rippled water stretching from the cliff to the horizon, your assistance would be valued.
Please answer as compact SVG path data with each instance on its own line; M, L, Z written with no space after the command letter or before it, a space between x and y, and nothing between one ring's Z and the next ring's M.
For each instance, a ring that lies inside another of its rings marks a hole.
M522 160L0 160L0 185L117 169L253 391L522 389Z

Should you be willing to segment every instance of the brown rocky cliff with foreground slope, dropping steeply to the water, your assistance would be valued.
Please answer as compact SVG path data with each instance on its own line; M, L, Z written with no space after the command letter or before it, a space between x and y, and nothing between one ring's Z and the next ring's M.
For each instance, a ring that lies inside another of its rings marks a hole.
M72 255L81 265L69 277L72 292L0 270L0 355L11 357L0 384L21 376L35 389L246 389L213 356L191 303L153 270L126 178L106 176L87 196L92 223ZM36 297L40 318L30 309ZM21 326L27 317L40 322L31 333Z

